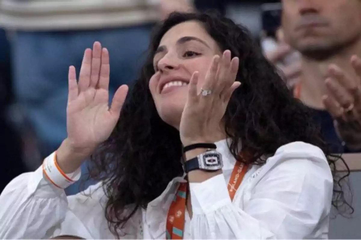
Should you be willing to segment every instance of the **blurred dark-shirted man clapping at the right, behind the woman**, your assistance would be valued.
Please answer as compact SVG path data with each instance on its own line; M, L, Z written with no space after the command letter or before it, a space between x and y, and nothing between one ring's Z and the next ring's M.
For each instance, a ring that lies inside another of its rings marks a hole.
M361 1L282 1L278 49L267 53L274 63L292 49L300 62L283 69L295 96L313 108L335 152L361 149ZM295 81L295 79L297 81ZM292 82L290 82L292 81ZM295 84L296 83L296 84Z

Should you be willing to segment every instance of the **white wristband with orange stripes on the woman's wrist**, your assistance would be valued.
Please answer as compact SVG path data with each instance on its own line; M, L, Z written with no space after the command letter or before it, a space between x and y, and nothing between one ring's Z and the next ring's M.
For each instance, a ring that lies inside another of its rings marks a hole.
M74 182L78 181L81 176L81 168L77 171L65 174L56 161L56 152L50 154L43 162L43 175L49 182L58 188L65 189Z

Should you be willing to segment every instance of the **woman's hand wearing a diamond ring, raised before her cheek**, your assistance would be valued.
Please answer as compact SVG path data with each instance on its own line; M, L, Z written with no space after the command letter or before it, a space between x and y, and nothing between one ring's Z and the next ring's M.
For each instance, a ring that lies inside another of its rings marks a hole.
M228 102L234 90L241 85L235 81L238 65L239 59L231 59L229 50L223 53L222 58L214 56L200 93L197 91L199 73L193 73L179 127L183 146L220 140L225 132L221 121Z

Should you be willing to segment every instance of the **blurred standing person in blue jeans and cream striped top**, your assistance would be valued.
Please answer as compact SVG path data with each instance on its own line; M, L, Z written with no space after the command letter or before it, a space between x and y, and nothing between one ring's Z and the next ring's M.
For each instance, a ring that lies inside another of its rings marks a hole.
M108 48L114 94L137 77L153 25L191 8L188 0L0 1L1 27L12 33L14 91L39 140L34 169L66 137L68 68L79 70L84 50L94 41Z

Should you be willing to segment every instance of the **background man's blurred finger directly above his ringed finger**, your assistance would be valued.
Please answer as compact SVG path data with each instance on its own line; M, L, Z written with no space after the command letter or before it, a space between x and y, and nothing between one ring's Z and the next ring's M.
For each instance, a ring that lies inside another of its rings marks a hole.
M348 108L351 104L353 104L352 96L343 86L340 85L338 81L334 80L334 78L326 78L325 85L329 95L332 95L341 107Z

